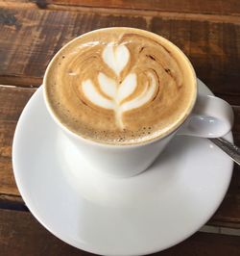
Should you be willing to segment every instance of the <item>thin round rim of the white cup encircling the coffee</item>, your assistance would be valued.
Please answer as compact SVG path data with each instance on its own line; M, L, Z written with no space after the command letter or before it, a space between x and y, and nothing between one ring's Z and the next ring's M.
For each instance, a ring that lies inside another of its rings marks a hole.
M193 100L191 102L190 107L188 108L186 114L184 116L182 116L182 118L180 119L180 121L173 127L171 127L171 129L168 129L165 133L163 133L161 136L156 136L156 138L150 139L148 141L143 141L143 142L137 142L137 143L126 143L126 144L111 144L111 143L106 143L106 142L100 142L100 141L93 141L91 139L86 139L84 137L82 137L81 135L78 135L76 133L74 133L73 131L71 131L68 127L66 127L59 119L59 117L54 113L49 101L48 101L48 97L47 97L47 92L46 92L46 79L48 76L48 72L49 69L51 68L51 66L55 63L55 60L58 58L58 56L60 55L61 51L63 49L65 49L69 44L71 44L72 42L74 42L75 40L78 40L79 38L84 37L85 35L89 35L89 34L93 34L96 33L98 31L102 31L102 30L114 30L114 29L124 29L124 30L135 30L137 32L141 32L141 33L147 33L150 34L152 37L154 38L160 38L161 40L167 42L168 44L171 45L171 47L175 48L181 55L181 57L183 59L185 59L186 63L188 64L188 66L190 67L190 70L192 72L192 76L193 76L193 80L194 80L194 87L195 87L195 93L194 93L194 97ZM140 147L143 145L147 145L147 144L152 144L156 141L161 141L169 136L171 136L172 134L174 134L175 132L177 132L177 130L180 128L180 126L185 122L185 120L187 119L187 117L192 113L193 108L195 106L195 103L197 101L197 76L196 76L196 72L193 68L193 65L191 64L190 60L187 58L187 56L180 50L180 48L174 44L172 41L170 41L167 38L163 38L162 36L159 36L153 32L147 31L147 30L142 30L142 29L137 29L137 28L132 28L132 27L107 27L107 28L101 28L101 29L96 29L96 30L92 30L89 31L87 33L82 34L81 36L77 37L77 38L73 38L70 41L68 41L66 44L64 44L60 50L54 55L54 57L51 59L50 63L48 64L45 73L44 73L44 77L43 77L43 98L44 98L44 102L45 105L47 107L47 110L49 112L49 114L52 116L52 118L54 119L54 121L60 126L60 128L67 134L69 134L71 137L75 138L76 140L80 140L83 141L85 143L90 143L92 145L95 146L102 146L102 147L109 147L109 148L133 148L133 147Z

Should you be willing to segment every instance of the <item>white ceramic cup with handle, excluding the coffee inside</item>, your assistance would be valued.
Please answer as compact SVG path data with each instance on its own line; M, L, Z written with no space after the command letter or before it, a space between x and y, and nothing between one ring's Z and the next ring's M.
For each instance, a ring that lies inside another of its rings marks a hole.
M184 56L183 53L182 55ZM54 59L50 64L53 62ZM189 65L191 65L190 62ZM79 150L79 154L84 156L86 164L91 169L111 176L130 177L146 170L156 160L167 143L177 135L217 138L226 135L232 127L233 113L226 101L215 96L198 94L195 106L186 120L164 138L130 145L111 145L86 140L64 126L51 110L44 90L47 73L48 68L43 80L43 91L50 115L63 131L64 136L74 144L75 148Z

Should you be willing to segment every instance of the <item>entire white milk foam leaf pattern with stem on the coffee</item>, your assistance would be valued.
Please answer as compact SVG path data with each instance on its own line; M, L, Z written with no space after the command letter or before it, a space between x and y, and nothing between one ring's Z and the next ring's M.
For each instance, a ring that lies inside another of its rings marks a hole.
M120 77L120 73L130 62L131 54L128 48L125 45L115 47L112 44L107 45L103 50L102 58L108 64L108 67L115 72L117 79L109 78L100 72L98 74L100 90L95 88L91 80L85 80L82 84L84 96L99 107L113 110L116 125L123 129L122 113L139 108L153 98L156 92L156 78L149 71L147 73L149 79L144 85L142 92L139 95L135 95L134 92L137 88L136 74L128 74L123 81L121 81ZM131 96L132 100L128 100Z

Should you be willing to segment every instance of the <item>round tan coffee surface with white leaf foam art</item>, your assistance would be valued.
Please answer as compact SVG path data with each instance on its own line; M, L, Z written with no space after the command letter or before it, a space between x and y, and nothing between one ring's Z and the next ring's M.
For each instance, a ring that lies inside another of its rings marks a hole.
M196 97L194 71L180 50L127 28L94 31L68 43L49 65L44 87L63 125L111 144L170 133Z

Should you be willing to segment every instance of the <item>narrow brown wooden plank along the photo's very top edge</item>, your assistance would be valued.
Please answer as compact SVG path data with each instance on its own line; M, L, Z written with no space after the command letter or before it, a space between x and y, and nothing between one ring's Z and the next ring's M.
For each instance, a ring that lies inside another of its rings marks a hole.
M16 1L13 0L13 2ZM17 2L26 3L27 1L18 0ZM42 9L49 8L53 5L60 5L66 8L94 7L176 13L240 14L238 0L31 0L28 2L36 3L36 6Z

